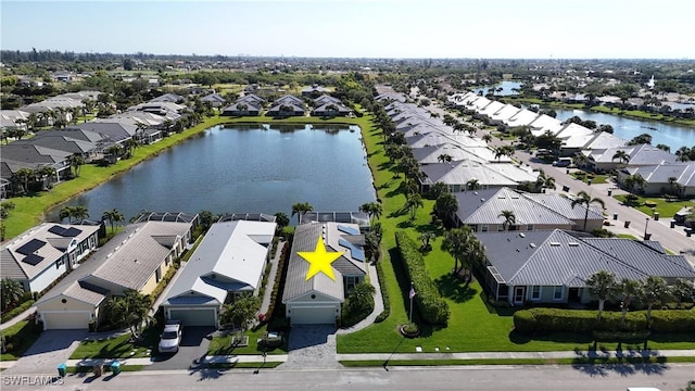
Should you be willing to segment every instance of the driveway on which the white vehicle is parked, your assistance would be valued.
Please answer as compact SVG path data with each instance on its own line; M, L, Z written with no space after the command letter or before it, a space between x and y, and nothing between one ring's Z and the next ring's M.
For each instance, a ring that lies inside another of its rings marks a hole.
M181 335L181 344L177 353L157 354L152 357L152 365L144 367L144 370L172 370L190 369L198 366L197 362L204 357L210 346L211 336L215 331L214 327L186 327Z

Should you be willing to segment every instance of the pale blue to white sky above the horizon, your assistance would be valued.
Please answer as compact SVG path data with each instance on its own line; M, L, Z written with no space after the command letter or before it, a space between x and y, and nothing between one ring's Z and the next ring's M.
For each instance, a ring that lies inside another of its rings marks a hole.
M0 0L3 50L695 59L693 0Z

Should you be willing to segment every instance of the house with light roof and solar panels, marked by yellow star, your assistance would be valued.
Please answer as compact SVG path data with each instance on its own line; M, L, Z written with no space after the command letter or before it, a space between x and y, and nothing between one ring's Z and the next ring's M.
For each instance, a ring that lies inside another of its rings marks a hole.
M306 279L309 264L298 252L313 252L319 237L325 237L327 252L342 252L331 264L334 280L324 273ZM282 292L286 316L292 325L336 324L345 294L367 275L364 244L356 224L313 222L296 226Z

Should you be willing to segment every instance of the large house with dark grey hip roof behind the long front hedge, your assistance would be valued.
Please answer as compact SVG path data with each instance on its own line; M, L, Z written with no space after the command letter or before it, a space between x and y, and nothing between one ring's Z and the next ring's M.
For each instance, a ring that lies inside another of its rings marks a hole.
M692 280L695 269L683 255L669 255L658 242L587 238L560 229L476 234L488 257L485 290L496 301L587 303L586 280L599 270L643 280L659 276Z

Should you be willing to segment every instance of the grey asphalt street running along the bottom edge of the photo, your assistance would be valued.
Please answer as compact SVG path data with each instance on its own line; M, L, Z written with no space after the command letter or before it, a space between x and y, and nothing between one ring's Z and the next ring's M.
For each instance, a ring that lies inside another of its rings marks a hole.
M1 374L0 374L0 377ZM93 378L71 375L62 386L10 386L2 390L591 390L620 391L631 386L662 391L684 388L695 379L695 365L647 366L459 366L364 369L228 371L139 371Z

